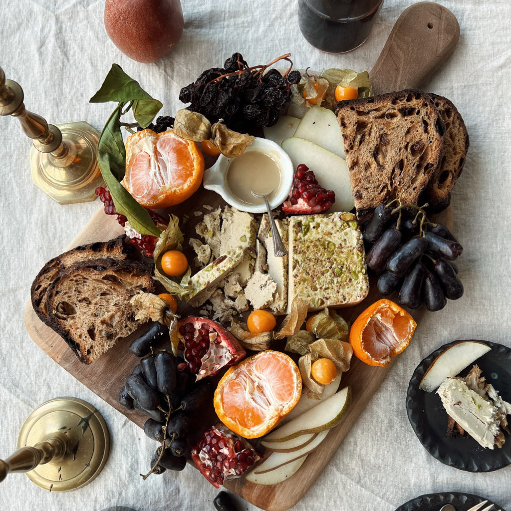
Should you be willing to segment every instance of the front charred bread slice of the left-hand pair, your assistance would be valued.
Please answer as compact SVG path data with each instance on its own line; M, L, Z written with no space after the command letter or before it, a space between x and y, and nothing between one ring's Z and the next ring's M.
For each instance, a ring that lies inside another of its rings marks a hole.
M48 289L46 323L90 364L140 326L129 302L139 291L154 291L152 270L130 260L75 263Z

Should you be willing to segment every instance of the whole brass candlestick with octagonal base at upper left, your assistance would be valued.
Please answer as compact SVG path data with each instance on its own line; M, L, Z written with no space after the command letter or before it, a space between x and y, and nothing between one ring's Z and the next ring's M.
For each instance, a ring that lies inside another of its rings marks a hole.
M96 187L104 184L97 161L99 131L84 121L48 124L27 111L23 99L21 87L6 80L0 67L0 115L17 117L33 140L30 166L34 184L60 204L94 200Z

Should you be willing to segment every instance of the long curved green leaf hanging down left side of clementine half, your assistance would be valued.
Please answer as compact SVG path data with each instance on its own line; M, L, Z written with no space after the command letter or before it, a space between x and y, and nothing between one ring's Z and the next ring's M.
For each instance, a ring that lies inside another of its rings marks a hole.
M159 237L161 231L154 225L149 212L138 204L119 182L124 177L126 168L126 149L120 126L123 106L123 103L119 103L101 132L98 143L98 164L117 212L127 217L137 233Z

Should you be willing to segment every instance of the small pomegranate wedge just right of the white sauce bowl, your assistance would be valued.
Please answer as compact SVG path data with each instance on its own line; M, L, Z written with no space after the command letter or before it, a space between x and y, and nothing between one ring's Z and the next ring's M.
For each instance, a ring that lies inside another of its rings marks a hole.
M304 164L298 165L288 200L282 205L287 214L311 215L327 211L335 202L335 192L318 184L314 172Z

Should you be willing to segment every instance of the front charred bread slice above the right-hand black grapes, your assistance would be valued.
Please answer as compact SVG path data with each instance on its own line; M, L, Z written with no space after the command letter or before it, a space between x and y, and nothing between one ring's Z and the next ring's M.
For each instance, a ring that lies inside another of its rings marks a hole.
M416 204L444 144L445 125L432 98L407 89L340 101L336 114L357 216L398 197Z

